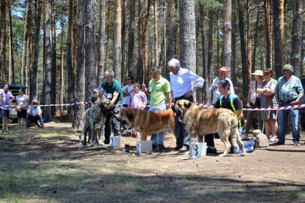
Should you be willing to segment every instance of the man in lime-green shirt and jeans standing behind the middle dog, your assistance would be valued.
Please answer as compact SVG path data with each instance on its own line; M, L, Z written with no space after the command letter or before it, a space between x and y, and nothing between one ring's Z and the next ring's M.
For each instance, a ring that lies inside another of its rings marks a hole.
M172 99L170 95L170 86L167 79L161 76L161 68L154 67L151 69L151 75L153 79L149 81L149 88L145 88L143 84L143 89L150 97L150 111L161 111L166 110L165 98L167 96L169 106L172 105ZM160 132L158 134L151 134L150 140L153 141L153 148L163 149L164 148L164 136L165 132ZM158 138L158 142L157 142Z

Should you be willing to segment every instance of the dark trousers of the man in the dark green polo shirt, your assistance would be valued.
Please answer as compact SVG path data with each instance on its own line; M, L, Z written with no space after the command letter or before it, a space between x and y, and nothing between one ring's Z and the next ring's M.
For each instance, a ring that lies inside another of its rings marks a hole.
M106 120L105 120L105 144L109 144L110 142L110 134L111 134L111 129L110 129L110 120L112 117L112 126L114 127L114 135L113 136L119 136L120 135L120 126L119 122L117 121L117 115L118 112L122 109L123 104L119 103L115 105L115 108L113 110L113 113L109 112L106 115Z

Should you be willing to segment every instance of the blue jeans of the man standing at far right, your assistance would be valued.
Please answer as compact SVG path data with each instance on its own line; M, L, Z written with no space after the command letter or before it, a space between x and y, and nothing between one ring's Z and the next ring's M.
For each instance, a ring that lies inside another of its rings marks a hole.
M291 104L282 103L279 105L279 107L284 107L284 106L291 106ZM278 111L278 122L279 122L278 139L280 142L285 142L288 116L291 122L293 141L299 141L300 132L298 128L298 113L299 113L298 108L283 109Z

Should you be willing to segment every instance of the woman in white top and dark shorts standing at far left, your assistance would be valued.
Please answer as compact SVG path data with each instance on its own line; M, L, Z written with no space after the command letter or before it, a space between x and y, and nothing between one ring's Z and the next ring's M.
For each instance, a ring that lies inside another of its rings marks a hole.
M21 123L21 118L22 118L22 123L23 123L23 131L25 131L25 127L26 127L26 111L27 111L27 107L24 107L25 105L29 105L29 99L28 96L25 95L25 90L24 88L21 88L19 91L19 94L16 97L16 103L17 106L16 110L19 108L20 110L17 110L17 115L18 115L18 130L17 132L19 132L20 130L20 123Z

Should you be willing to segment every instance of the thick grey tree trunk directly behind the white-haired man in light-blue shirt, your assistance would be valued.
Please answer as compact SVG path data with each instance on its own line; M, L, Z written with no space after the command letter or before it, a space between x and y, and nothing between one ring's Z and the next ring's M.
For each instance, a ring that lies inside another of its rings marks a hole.
M182 68L196 72L195 5L193 0L179 0L179 60ZM196 95L193 95L196 100Z

